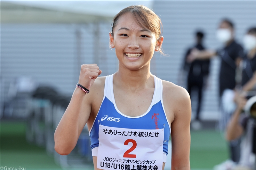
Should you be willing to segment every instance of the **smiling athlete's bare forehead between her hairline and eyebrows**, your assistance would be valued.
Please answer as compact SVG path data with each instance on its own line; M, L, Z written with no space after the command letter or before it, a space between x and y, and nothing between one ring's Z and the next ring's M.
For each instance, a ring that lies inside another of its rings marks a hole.
M137 19L132 13L125 13L120 16L120 18L118 18L117 25L115 26L113 31L116 32L120 28L127 28L131 31L148 30L150 32L148 28L142 27L138 24Z

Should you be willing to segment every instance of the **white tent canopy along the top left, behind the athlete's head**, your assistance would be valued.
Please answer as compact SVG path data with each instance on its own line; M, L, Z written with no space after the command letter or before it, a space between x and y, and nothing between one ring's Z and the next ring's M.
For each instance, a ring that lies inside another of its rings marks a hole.
M1 23L88 23L112 18L123 8L153 1L1 1Z

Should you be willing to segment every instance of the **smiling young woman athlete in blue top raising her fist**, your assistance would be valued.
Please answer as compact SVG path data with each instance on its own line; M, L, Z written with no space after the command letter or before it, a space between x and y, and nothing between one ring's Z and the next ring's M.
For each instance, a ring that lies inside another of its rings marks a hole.
M160 18L142 5L115 16L109 37L118 71L98 77L96 64L81 66L79 88L54 134L56 152L69 154L87 123L95 169L164 169L170 135L172 169L190 169L188 92L149 70L154 52L162 52L160 26Z

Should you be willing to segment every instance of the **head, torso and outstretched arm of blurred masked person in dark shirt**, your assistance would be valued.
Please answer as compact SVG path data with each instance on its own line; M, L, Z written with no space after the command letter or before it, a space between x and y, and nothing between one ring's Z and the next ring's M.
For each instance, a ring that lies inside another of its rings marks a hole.
M196 59L209 59L217 55L221 57L220 96L225 89L235 88L236 66L239 65L243 56L243 48L236 42L234 32L234 24L229 19L223 19L216 31L216 38L223 44L223 47L218 50L205 49L202 51L194 48L190 55L188 55L188 62L193 62Z

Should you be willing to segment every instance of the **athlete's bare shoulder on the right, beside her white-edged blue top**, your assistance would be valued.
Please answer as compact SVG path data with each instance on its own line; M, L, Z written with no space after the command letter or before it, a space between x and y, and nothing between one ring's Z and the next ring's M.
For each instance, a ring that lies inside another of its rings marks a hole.
M162 80L164 108L172 122L177 115L191 114L190 97L186 89L174 83Z

